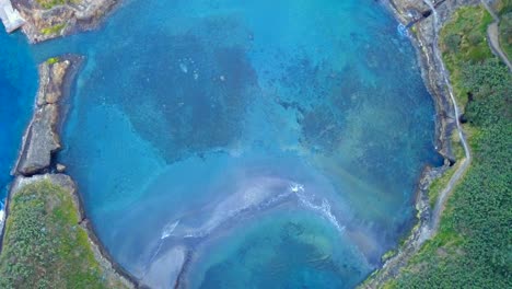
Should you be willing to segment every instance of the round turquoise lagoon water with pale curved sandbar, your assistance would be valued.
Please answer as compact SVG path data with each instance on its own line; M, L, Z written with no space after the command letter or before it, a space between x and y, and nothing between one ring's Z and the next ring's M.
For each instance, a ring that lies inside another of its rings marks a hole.
M396 26L373 0L136 0L32 55L86 57L59 161L142 284L351 288L440 162Z

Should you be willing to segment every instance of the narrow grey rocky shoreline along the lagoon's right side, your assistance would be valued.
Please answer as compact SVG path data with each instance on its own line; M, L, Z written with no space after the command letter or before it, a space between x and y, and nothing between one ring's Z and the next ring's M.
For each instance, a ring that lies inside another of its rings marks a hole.
M432 1L435 2L435 1ZM440 1L438 1L440 2ZM450 20L456 9L463 5L479 4L478 0L452 0L440 3L437 8L440 26ZM386 2L389 11L404 26L418 20L429 7L421 0L388 0ZM444 157L442 167L426 167L421 174L417 197L416 209L418 222L405 242L398 247L397 253L386 259L382 268L375 270L360 288L381 288L387 280L396 277L402 267L407 265L409 258L419 251L421 245L431 235L432 208L429 205L428 189L430 184L452 166L457 160L453 154L451 135L456 129L457 117L450 99L450 88L446 86L442 66L435 57L438 43L437 36L440 27L434 25L432 16L427 16L415 23L415 31L410 33L411 42L417 49L418 61L421 67L421 76L427 89L432 95L435 104L435 139L437 150Z

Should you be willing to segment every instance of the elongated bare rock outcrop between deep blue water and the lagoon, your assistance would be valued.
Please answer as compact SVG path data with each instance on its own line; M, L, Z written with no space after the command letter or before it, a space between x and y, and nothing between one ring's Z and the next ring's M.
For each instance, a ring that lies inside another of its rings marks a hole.
M50 167L51 154L61 148L59 126L63 83L72 77L79 57L51 58L39 66L39 90L32 122L23 138L15 174L30 176Z

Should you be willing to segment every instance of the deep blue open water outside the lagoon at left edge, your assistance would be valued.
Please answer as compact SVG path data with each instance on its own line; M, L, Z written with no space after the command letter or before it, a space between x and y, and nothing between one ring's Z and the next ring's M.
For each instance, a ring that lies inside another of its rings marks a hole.
M37 68L20 33L0 32L0 199L3 199L37 89Z

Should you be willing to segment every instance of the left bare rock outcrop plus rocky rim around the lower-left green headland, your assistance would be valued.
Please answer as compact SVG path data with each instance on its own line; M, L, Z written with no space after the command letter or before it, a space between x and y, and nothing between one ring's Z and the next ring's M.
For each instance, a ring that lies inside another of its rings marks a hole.
M109 276L119 279L128 288L136 288L138 280L118 265L98 241L85 216L75 183L65 174L66 166L55 163L55 153L61 149L60 130L67 111L66 96L70 93L82 60L82 57L66 55L50 58L38 67L39 89L36 105L12 172L15 178L5 204L5 219L9 218L10 199L25 185L46 180L66 188L73 197L81 220L79 224L88 232L96 261ZM3 233L0 238L3 240Z

